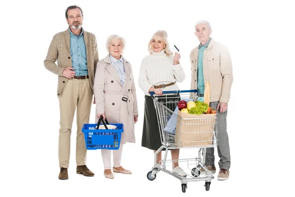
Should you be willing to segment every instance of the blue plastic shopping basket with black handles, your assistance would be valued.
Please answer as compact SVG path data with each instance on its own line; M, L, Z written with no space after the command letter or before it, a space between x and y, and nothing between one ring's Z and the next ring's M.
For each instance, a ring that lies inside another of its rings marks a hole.
M102 124L100 124L102 122ZM108 121L106 123L109 125ZM99 125L104 125L106 129L99 129ZM84 132L85 145L87 150L109 149L118 150L120 147L121 133L123 132L123 124L112 123L116 129L108 129L107 125L100 116L97 124L84 124L82 132ZM97 126L97 127L96 127ZM95 128L96 127L96 128Z

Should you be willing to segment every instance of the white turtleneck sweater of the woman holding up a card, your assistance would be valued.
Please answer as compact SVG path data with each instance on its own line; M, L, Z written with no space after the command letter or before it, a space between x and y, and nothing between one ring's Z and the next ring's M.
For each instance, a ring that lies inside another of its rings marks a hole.
M148 91L151 87L182 82L185 78L184 71L180 65L173 65L174 56L166 56L164 50L159 53L152 52L145 57L141 63L138 78L139 87L150 96ZM162 91L179 90L177 84L162 88Z

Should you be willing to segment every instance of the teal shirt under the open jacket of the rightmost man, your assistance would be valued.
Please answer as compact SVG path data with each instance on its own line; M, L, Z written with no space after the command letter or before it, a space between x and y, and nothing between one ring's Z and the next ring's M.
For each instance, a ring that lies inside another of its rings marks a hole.
M200 46L199 46L197 78L198 78L198 91L201 95L204 95L204 92L205 92L204 72L203 72L204 50L207 49L210 41L211 41L211 38L209 38L209 40L204 45L200 43Z

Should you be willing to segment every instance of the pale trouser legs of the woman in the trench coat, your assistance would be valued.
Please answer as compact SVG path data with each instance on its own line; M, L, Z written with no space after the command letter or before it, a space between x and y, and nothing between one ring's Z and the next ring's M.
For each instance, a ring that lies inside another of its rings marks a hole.
M101 149L101 156L102 156L102 161L105 169L111 169L112 164L111 164L111 154L113 151L113 163L114 167L119 167L121 166L121 158L122 158L122 151L123 151L123 144L120 144L120 147L118 150L106 150L106 149Z

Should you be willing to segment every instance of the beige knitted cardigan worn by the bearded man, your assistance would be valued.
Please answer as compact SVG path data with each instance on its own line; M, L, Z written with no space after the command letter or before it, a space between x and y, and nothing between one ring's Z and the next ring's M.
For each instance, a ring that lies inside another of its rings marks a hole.
M89 81L93 91L94 73L96 64L98 62L98 50L95 35L83 30L84 41L87 51L87 66ZM55 63L58 60L58 65ZM72 57L70 52L70 33L69 29L64 32L57 33L53 36L51 44L48 49L44 66L49 71L59 75L58 81L58 97L68 78L62 76L62 71L66 67L72 67Z

